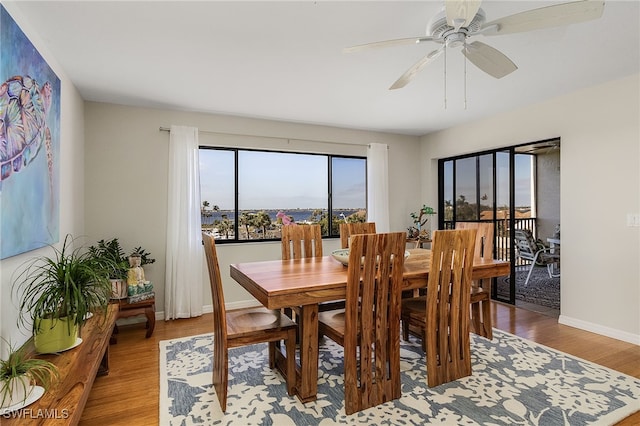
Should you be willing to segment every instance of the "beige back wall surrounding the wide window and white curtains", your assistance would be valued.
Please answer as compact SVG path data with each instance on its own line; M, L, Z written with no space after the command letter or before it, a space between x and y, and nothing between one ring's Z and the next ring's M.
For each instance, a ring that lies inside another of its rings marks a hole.
M213 146L366 155L368 143L385 143L389 145L392 188L391 229L405 230L410 224L409 213L422 205L416 199L420 188L416 137L93 102L86 103L85 116L86 232L96 241L118 237L126 250L141 245L151 252L157 262L145 266L145 276L154 283L159 316L164 310L169 141L169 134L159 131L160 127L198 127L203 131L200 143ZM324 242L327 253L335 248L336 240ZM229 277L229 264L280 259L280 245L219 245L218 256L227 303L246 306L256 302ZM209 305L206 270L202 285L205 305Z

